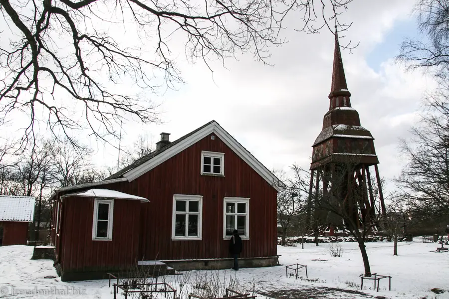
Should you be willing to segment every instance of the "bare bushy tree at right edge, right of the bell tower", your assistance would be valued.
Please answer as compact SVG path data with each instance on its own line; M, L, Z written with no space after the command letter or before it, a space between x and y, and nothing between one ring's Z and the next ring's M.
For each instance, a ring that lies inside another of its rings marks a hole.
M397 184L409 205L431 208L434 215L449 211L449 99L434 94L427 102L412 138L401 143L407 164Z

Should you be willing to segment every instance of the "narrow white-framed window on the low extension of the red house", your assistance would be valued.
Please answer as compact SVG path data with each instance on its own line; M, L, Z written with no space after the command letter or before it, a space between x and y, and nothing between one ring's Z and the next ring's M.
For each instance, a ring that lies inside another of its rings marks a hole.
M114 201L95 199L92 240L112 240Z

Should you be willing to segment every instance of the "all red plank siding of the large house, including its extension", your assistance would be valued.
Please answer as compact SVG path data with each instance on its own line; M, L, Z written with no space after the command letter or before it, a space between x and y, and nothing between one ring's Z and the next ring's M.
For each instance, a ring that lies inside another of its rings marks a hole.
M225 197L250 198L249 240L243 240L241 257L275 256L276 189L218 136L211 140L211 135L131 182L98 187L150 200L149 203L115 200L112 241L91 240L93 199L64 198L59 250L62 269L97 271L134 263L136 257L139 260L229 258L229 241L223 238ZM225 153L225 176L201 175L203 150ZM172 240L174 194L203 196L202 240ZM134 209L136 204L139 206Z

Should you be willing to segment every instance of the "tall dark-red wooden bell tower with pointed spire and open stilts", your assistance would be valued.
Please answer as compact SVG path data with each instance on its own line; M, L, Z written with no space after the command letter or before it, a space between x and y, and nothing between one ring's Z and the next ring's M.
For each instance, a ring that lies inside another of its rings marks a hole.
M358 223L373 222L376 213L385 214L374 138L361 126L350 97L335 32L329 111L324 115L322 131L313 143L310 165L309 204L315 198L318 207L315 221L322 224L343 223L335 213L320 212L322 201L318 198L339 201ZM375 177L372 177L373 168Z

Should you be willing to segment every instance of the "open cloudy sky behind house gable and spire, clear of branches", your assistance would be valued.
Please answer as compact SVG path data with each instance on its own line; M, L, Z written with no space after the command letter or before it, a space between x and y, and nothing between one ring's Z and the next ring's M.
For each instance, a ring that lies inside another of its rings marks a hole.
M399 174L404 163L397 154L399 138L409 136L423 95L434 86L394 61L404 38L417 35L414 2L354 0L344 14L353 24L340 39L341 44L360 42L352 53L342 51L346 80L352 107L375 138L381 176L387 179ZM162 124L124 124L122 147L130 149L139 134L156 143L167 132L173 141L216 120L266 167L287 170L296 162L308 169L329 107L334 36L294 31L297 16L290 14L284 24L288 43L270 49L273 66L243 55L226 60L225 68L213 62L211 73L204 63L184 61L184 48L172 48L179 51L176 62L186 83L153 97L161 104ZM91 145L99 167L116 165L117 149Z

